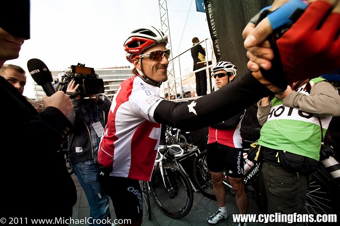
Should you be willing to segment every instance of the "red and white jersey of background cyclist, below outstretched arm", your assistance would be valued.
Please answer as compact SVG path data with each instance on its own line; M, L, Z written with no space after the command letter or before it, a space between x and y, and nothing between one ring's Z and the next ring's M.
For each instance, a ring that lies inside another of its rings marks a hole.
M232 129L216 129L209 126L208 144L217 142L229 147L242 148L243 138L240 131L242 120L243 117L239 124Z

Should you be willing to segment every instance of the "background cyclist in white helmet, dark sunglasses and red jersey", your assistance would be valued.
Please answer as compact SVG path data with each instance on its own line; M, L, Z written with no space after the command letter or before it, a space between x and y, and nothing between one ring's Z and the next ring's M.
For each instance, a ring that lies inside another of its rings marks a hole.
M213 68L213 75L218 88L230 85L236 74L237 68L231 62L221 61ZM225 206L224 171L227 172L230 185L233 186L235 191L236 204L240 213L246 214L248 209L248 197L243 183L243 139L240 131L244 112L245 110L232 118L209 126L207 164L219 206L216 213L207 218L210 224L216 224L229 216Z

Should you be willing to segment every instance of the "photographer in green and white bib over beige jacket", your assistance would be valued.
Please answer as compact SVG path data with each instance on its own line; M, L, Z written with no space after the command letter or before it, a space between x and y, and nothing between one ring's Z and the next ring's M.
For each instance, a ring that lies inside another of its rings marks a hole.
M340 115L338 90L325 79L292 86L271 101L265 97L258 102L257 118L263 126L256 143L264 156L260 184L267 196L268 214L302 212L309 180L319 161L321 134L325 135L332 117ZM310 165L310 170L308 164L301 169L284 168L283 159L278 159L282 151L315 165Z

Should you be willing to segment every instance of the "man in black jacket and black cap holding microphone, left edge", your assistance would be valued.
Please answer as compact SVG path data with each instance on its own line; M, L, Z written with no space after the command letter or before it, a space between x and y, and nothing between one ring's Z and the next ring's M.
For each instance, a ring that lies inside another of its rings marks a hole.
M19 57L30 35L29 0L5 0L1 7L5 13L0 16L0 67ZM64 156L58 152L73 129L66 118L73 110L69 96L62 91L44 96L46 108L39 114L1 76L0 96L1 223L16 218L22 221L19 225L37 225L32 220L71 218L77 194ZM68 224L61 221L59 225Z

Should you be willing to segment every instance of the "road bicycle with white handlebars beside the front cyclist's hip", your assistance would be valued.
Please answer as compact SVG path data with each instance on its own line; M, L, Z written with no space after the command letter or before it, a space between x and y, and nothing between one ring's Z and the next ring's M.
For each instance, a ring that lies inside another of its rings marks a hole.
M191 144L159 146L150 182L140 181L149 220L150 193L159 209L171 218L182 218L190 212L194 202L193 182L180 162L198 153L198 147Z

